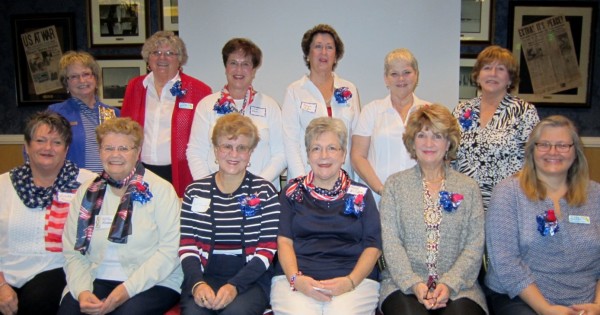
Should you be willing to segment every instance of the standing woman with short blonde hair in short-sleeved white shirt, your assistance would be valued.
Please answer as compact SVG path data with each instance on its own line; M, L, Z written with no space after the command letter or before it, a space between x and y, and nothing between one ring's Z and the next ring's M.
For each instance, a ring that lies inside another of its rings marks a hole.
M408 115L428 103L414 94L419 82L419 64L408 49L399 48L387 54L383 79L390 94L363 108L350 152L354 170L376 193L377 201L383 193L383 183L391 174L415 165L404 147L402 135Z

